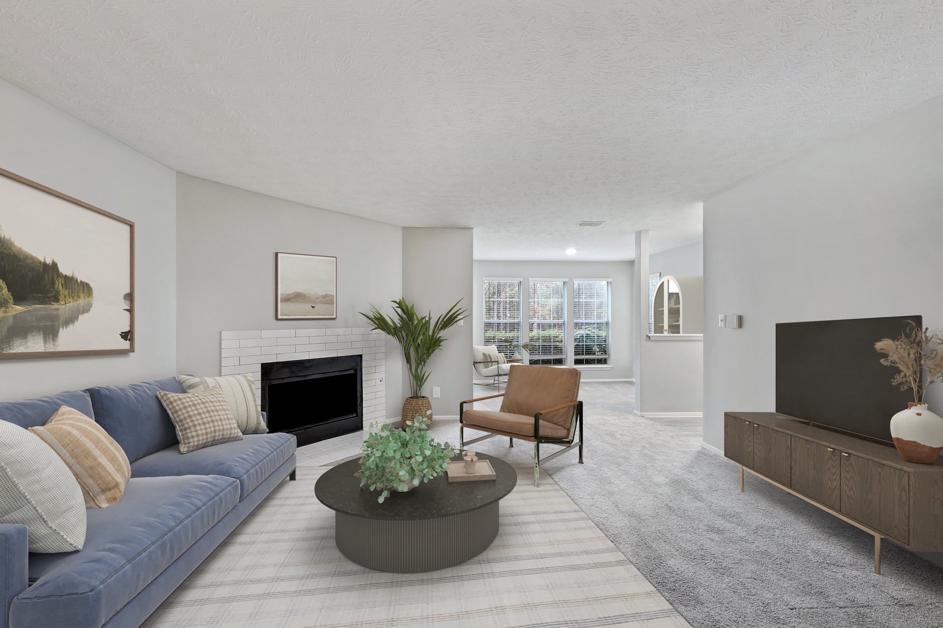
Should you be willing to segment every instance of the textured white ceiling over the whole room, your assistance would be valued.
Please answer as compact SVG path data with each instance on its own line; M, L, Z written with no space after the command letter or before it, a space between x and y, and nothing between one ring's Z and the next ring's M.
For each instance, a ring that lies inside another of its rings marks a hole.
M0 76L171 168L479 259L687 244L704 198L943 92L928 0L5 0L0 37Z

